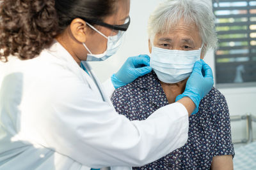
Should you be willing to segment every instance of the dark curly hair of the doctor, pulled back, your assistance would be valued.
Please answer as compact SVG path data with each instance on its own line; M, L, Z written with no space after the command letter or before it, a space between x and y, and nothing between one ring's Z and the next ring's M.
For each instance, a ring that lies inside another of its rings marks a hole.
M0 2L0 60L33 59L51 45L74 18L100 20L115 0L4 0Z

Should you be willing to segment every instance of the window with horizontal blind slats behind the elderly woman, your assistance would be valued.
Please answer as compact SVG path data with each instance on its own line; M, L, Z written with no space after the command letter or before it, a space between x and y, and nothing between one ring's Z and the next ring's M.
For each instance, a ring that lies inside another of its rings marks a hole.
M256 82L256 1L215 0L216 83Z

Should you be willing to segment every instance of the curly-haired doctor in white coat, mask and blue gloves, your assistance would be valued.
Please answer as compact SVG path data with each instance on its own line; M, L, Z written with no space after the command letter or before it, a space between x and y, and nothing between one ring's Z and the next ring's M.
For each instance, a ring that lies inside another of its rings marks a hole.
M148 57L127 59L106 83L109 93L83 62L116 52L129 6L129 0L1 3L0 52L8 62L0 68L0 169L143 166L186 143L188 117L213 84L207 64L196 62L177 103L130 122L108 94L150 72Z

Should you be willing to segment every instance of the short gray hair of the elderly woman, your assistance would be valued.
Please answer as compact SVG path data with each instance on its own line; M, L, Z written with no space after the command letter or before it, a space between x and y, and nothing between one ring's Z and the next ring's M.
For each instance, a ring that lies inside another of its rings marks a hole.
M186 24L194 23L198 27L204 43L204 55L209 48L216 49L218 38L214 25L215 17L211 6L203 0L168 0L160 3L148 20L150 42L154 42L157 33L169 32L170 27L182 18Z

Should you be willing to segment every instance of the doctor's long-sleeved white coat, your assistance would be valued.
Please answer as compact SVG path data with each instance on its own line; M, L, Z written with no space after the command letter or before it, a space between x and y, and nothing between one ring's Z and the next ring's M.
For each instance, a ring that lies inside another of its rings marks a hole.
M186 143L182 104L131 122L91 76L57 42L0 65L0 169L142 166Z

